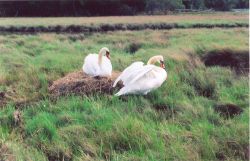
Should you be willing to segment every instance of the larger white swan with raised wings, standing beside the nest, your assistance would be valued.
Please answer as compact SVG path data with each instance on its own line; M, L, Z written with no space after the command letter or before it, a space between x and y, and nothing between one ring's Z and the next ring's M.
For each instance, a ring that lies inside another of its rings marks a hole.
M160 63L160 67L153 64ZM153 56L148 60L147 65L143 62L135 62L127 67L115 80L113 87L118 81L122 81L124 87L120 89L116 96L125 94L144 94L159 88L167 79L163 56Z

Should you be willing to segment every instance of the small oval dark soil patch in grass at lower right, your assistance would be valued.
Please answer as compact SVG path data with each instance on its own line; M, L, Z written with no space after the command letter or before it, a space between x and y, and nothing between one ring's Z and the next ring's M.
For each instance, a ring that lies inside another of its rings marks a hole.
M243 112L243 110L239 106L236 106L234 104L216 105L214 109L216 112L220 113L220 115L226 118L240 115Z

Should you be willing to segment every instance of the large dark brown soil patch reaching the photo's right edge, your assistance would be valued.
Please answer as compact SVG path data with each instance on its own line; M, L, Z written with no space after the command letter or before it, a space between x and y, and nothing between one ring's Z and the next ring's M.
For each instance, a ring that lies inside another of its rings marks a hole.
M237 73L249 72L249 51L234 51L230 49L213 50L203 58L206 66L230 67Z

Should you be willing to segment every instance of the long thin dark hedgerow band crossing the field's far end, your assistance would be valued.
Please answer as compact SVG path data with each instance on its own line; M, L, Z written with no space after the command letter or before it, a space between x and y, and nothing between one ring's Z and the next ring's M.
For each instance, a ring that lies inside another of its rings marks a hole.
M177 23L145 23L145 24L100 24L97 26L89 25L67 25L67 26L0 26L1 32L20 32L20 33L39 33L39 32L56 32L56 33L80 33L80 32L107 32L107 31L124 31L124 30L170 30L170 29L183 29L183 28L247 28L249 25L246 23L234 24L177 24Z

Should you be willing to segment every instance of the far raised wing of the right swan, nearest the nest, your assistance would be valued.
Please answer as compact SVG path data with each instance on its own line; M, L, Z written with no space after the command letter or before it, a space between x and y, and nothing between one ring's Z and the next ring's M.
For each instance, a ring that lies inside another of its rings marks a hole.
M127 84L128 81L130 80L131 78L131 75L134 71L137 71L138 69L142 69L143 67L143 62L134 62L132 63L130 66L128 66L123 72L122 74L115 80L114 84L113 84L113 87L116 86L116 84L122 80L123 81L123 84Z

